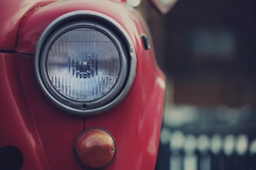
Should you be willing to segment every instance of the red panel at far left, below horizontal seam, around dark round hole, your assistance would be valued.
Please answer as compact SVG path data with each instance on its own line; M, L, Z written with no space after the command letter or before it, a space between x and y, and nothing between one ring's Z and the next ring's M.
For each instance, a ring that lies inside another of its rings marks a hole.
M0 65L0 147L19 148L23 170L47 170L49 163L15 69L15 54L0 53Z

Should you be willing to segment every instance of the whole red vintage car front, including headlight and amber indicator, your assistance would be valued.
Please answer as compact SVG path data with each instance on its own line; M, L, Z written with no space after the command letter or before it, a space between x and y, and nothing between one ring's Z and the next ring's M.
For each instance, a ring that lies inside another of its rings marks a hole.
M166 79L136 9L0 7L0 170L154 170Z

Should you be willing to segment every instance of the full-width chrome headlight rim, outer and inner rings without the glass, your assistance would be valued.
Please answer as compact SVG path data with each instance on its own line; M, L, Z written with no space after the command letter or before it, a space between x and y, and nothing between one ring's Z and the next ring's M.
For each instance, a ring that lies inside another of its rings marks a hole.
M120 58L120 72L115 85L105 96L88 102L74 101L60 94L47 74L47 56L52 44L62 34L76 28L92 28L105 34L116 46ZM95 11L74 11L58 17L43 31L35 48L36 77L42 90L57 106L80 116L102 113L121 102L133 85L136 67L137 58L131 37L115 20Z

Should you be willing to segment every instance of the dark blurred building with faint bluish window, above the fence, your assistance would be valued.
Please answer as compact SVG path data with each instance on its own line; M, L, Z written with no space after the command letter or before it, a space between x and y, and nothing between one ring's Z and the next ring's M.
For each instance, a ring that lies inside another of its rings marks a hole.
M254 0L179 0L165 17L166 74L175 103L256 103Z

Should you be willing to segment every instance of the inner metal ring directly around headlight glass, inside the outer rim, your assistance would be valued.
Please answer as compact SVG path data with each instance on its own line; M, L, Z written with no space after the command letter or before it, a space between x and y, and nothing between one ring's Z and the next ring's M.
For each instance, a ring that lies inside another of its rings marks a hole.
M52 44L57 40L62 34L66 33L67 31L71 31L76 28L91 28L96 31L102 32L107 37L111 39L111 41L116 46L116 49L119 53L120 58L120 71L119 76L108 93L106 93L104 96L100 97L99 99L94 99L91 101L81 102L76 101L73 99L69 99L66 96L63 96L60 94L57 89L52 85L50 82L49 76L47 74L47 58L50 48L52 47ZM87 110L90 108L97 108L101 105L105 105L108 103L109 100L113 99L123 88L126 78L128 75L128 59L127 59L127 53L124 50L125 47L122 44L122 42L119 41L119 37L113 33L113 31L106 27L105 25L101 23L97 23L95 21L75 21L68 23L64 26L61 26L57 28L57 30L53 31L48 37L47 40L44 42L44 45L41 49L41 54L39 58L39 71L41 75L41 79L46 86L47 90L49 91L52 96L55 97L58 101L63 103L64 105L68 105L72 108L77 108L81 110Z

